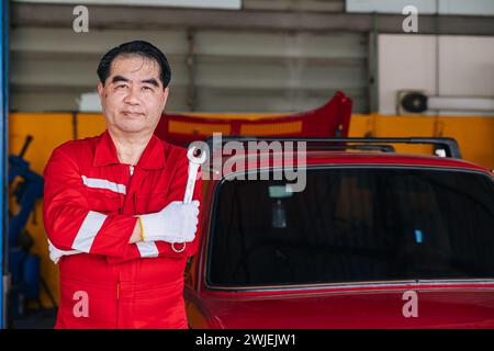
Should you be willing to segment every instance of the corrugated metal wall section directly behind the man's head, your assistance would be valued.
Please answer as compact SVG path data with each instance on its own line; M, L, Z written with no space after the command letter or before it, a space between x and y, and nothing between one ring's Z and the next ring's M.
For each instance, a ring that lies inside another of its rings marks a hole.
M101 56L113 46L142 38L167 53L173 68L170 109L187 109L188 52L184 31L19 27L11 32L11 91L14 111L71 111L82 92L96 91Z

